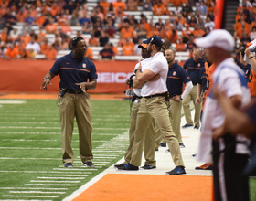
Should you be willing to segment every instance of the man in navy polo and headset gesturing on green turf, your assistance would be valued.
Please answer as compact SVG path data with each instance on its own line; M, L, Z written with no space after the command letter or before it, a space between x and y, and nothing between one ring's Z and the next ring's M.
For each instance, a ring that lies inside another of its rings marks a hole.
M93 90L97 85L97 74L94 63L85 58L87 46L82 37L72 39L72 51L55 61L46 74L41 87L47 90L50 80L59 74L59 117L62 140L62 162L64 167L72 167L74 153L71 139L74 117L78 124L80 135L80 159L82 164L94 167L92 164L92 123L91 103L87 90Z

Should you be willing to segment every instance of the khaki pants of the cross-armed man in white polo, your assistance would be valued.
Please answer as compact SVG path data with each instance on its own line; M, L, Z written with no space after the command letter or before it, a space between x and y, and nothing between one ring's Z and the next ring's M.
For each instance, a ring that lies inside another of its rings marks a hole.
M176 136L172 130L165 97L142 98L137 114L131 164L140 166L142 161L144 138L150 120L154 118L160 131L164 134L170 153L176 166L184 166ZM153 144L155 148L155 143Z

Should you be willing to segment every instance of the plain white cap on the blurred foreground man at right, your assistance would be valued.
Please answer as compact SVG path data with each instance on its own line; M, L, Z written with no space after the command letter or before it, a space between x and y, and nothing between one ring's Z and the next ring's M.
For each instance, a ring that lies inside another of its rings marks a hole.
M234 38L225 29L215 29L206 37L196 38L195 44L198 48L218 47L231 52L235 46Z

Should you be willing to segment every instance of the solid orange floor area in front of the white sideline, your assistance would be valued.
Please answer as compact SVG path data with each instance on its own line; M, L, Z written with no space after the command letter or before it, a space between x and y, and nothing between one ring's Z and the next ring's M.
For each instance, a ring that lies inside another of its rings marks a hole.
M212 176L107 174L72 201L211 201Z

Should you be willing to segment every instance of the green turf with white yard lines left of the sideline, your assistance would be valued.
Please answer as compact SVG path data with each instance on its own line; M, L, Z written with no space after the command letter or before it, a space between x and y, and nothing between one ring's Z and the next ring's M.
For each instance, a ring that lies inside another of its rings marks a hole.
M73 170L77 171L74 172L64 168L61 161L56 100L3 104L0 108L0 199L62 200L120 160L128 146L129 101L91 100L91 109L96 168L88 170L80 164L75 123L72 148L76 156ZM65 176L55 179L57 185L38 185L53 184L47 183L50 179L41 178L50 175ZM62 183L67 181L67 175L78 175L79 179L72 180L74 183Z

